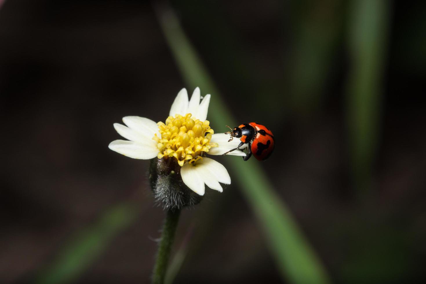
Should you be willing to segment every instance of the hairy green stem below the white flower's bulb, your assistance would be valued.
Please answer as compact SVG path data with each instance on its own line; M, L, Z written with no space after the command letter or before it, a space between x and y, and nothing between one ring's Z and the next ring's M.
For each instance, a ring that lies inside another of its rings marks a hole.
M155 260L153 284L164 283L164 277L166 276L167 264L169 262L173 240L175 239L175 232L180 213L180 209L167 210L163 230L161 232L161 240L158 245L157 259Z

